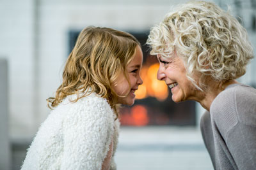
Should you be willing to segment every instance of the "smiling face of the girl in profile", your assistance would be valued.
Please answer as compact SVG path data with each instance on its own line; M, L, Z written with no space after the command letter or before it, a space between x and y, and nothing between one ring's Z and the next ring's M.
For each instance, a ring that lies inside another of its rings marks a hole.
M131 83L131 87L129 87L129 83L123 74L120 74L117 80L113 83L113 89L115 90L116 94L118 94L118 103L127 104L129 106L134 104L134 92L138 90L139 85L143 83L140 77L140 70L143 60L143 54L140 46L136 46L136 51L132 57L133 59L127 65L127 75Z

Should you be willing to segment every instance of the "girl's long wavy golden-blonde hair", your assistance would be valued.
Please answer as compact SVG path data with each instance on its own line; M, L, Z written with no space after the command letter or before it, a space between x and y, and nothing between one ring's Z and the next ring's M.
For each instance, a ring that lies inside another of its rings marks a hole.
M139 41L127 32L93 26L83 29L68 56L63 82L55 97L47 99L48 107L58 106L65 97L72 94L77 95L72 101L76 102L95 92L108 100L118 117L118 96L111 87L120 74L124 74L129 82L126 67L137 45L140 45Z

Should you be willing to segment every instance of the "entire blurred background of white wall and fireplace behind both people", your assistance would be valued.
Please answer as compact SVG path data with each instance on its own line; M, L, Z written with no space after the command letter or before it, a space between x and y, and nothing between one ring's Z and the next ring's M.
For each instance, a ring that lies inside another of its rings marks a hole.
M213 169L199 130L204 109L194 102L175 104L156 80L157 61L145 46L171 0L0 0L0 169L20 169L26 149L49 115L47 97L61 83L68 53L84 27L113 27L136 36L143 45L144 84L134 106L121 110L116 152L120 170ZM235 15L256 46L256 0L212 1ZM255 87L256 60L241 83Z

